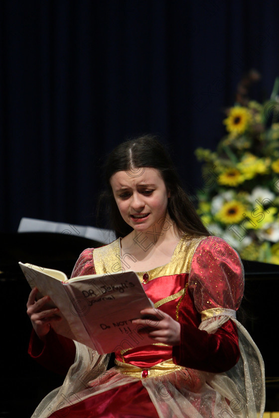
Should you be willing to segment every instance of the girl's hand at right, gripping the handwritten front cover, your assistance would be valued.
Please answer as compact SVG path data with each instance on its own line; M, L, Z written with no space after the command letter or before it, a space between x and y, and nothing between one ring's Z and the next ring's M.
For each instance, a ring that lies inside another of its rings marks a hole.
M158 309L147 308L140 311L144 316L134 319L132 323L142 325L139 332L146 333L157 342L169 345L179 345L180 343L180 323L171 316Z

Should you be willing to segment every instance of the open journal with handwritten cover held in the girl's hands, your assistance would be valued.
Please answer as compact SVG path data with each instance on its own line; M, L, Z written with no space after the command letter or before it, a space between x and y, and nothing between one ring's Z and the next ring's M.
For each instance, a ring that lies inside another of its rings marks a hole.
M53 302L44 309L59 308L62 320L54 330L81 342L99 354L152 344L142 326L132 324L140 311L153 308L137 274L131 270L72 279L58 270L19 262L24 276L38 298L48 295Z

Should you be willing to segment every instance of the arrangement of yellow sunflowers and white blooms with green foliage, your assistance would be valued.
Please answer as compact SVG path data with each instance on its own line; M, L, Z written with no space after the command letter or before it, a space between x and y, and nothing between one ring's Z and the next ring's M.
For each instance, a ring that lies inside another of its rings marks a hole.
M260 104L246 95L257 77L251 72L239 84L216 151L195 151L203 162L197 210L243 259L279 264L279 79Z

